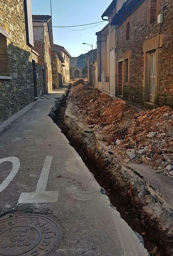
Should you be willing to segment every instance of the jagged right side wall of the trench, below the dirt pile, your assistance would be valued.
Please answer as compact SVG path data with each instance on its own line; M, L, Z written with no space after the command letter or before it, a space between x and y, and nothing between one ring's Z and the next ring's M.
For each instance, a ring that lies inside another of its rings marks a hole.
M64 124L66 133L76 143L82 144L86 154L90 156L98 165L112 165L109 172L105 171L114 184L127 196L132 205L134 205L145 223L156 229L159 234L159 240L166 249L168 255L172 255L172 238L173 238L173 211L172 206L167 202L159 192L151 186L138 170L128 167L119 161L116 156L108 149L99 135L93 129L89 129L86 124L78 121L77 117L71 114L72 103L68 103L65 111ZM91 130L92 132L87 132ZM89 142L88 142L89 138ZM94 147L92 147L94 145ZM106 160L105 160L106 159ZM146 226L147 226L146 225Z

